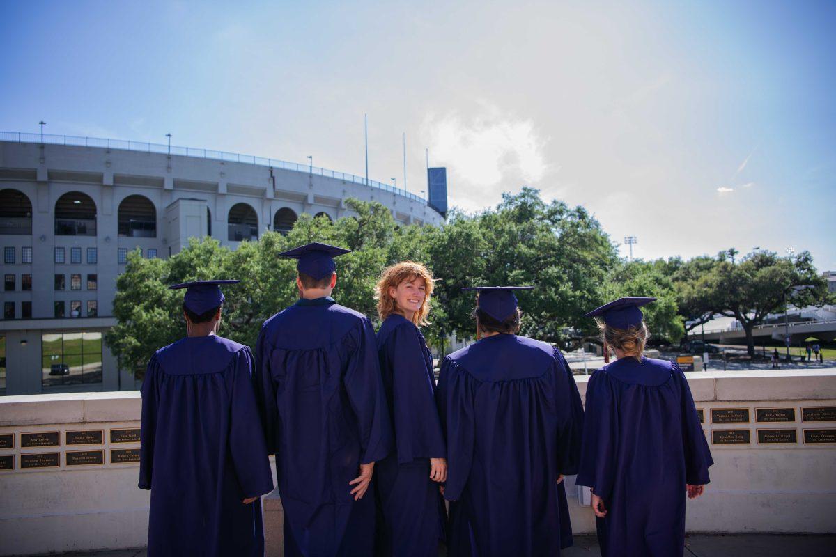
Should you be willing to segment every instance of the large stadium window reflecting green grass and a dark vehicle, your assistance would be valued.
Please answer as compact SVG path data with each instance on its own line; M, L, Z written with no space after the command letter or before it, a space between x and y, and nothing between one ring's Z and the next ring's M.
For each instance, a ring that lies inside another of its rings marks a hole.
M44 387L102 382L102 333L65 332L41 336Z

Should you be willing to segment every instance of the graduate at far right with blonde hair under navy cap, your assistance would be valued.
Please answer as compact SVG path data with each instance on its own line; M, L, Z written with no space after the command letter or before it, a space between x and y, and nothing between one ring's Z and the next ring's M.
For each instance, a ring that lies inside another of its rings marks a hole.
M618 357L589 378L577 479L592 488L604 557L681 555L686 494L702 494L714 463L685 375L642 355L639 307L654 300L621 298L586 314Z

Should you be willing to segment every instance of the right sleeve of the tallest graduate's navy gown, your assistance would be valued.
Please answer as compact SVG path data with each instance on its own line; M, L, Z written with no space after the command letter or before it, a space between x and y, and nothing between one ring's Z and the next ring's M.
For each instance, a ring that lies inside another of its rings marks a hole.
M356 333L356 346L349 355L343 379L351 408L359 426L361 463L384 458L392 448L392 429L380 361L375 344L375 330L363 319Z

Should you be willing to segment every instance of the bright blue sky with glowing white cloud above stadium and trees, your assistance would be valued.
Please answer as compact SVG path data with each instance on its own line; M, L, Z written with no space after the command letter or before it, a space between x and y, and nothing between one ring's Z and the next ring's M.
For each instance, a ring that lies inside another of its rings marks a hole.
M836 3L0 2L0 129L533 185L635 255L836 270ZM622 250L625 253L624 249Z

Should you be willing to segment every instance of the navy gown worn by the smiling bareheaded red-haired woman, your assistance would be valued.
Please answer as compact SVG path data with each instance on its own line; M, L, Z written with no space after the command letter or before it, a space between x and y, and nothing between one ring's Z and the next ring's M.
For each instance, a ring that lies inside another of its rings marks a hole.
M395 433L395 451L375 465L381 524L380 555L437 557L446 512L430 479L430 458L446 458L436 409L432 355L404 316L385 319L377 333L380 373Z

